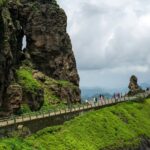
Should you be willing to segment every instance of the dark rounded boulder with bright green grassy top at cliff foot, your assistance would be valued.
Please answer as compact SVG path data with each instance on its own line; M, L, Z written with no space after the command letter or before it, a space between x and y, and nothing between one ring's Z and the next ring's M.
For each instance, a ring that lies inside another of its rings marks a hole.
M40 110L44 103L44 89L41 84L33 78L32 69L20 67L17 72L17 82L23 88L23 101L32 111Z

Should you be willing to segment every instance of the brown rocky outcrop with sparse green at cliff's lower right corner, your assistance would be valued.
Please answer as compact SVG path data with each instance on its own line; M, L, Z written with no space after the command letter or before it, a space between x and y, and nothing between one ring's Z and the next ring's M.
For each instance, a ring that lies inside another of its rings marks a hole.
M48 96L49 103L58 104L63 102L67 104L80 102L80 90L78 86L73 83L65 80L54 80L38 70L33 70L32 74L33 77L41 83L45 91L50 93ZM56 99L54 99L53 96L55 96Z

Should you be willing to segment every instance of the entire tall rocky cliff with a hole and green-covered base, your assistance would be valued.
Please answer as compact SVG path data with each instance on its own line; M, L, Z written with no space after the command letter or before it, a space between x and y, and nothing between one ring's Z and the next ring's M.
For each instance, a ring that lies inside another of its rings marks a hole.
M55 0L0 0L0 115L80 102L66 27Z

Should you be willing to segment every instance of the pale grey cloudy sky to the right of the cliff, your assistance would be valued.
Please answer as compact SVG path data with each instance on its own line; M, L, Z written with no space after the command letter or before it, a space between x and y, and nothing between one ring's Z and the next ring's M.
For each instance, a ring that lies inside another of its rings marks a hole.
M150 83L150 0L57 0L81 87L127 87L129 77Z

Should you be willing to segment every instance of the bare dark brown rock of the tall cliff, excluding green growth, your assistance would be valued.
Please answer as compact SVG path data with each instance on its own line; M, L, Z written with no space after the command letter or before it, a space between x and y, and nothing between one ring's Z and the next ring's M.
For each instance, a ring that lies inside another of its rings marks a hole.
M16 70L23 61L29 61L33 70L50 78L74 84L77 89L69 92L60 87L49 88L60 97L67 97L67 101L80 102L79 76L66 26L65 12L55 0L11 0L0 4L0 110L9 110L6 107L11 106L10 95L15 94L10 87L18 82ZM27 45L22 51L23 37ZM23 98L17 97L16 108L24 99L30 99L31 109L38 110L44 103L44 91L33 95L21 88Z

